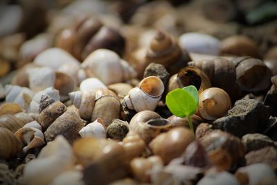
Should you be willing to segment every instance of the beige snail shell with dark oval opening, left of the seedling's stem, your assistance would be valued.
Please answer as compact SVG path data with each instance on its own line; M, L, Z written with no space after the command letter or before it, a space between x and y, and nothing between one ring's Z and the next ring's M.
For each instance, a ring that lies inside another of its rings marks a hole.
M159 133L169 130L170 127L171 124L168 120L150 110L137 113L129 122L129 130L139 134L146 144L150 143Z

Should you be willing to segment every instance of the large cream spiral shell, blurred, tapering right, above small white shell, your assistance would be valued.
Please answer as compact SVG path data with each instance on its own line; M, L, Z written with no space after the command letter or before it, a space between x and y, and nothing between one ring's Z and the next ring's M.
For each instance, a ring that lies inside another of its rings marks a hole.
M120 57L107 49L97 49L90 53L81 64L82 68L89 68L93 74L105 85L123 82L136 77L136 71Z

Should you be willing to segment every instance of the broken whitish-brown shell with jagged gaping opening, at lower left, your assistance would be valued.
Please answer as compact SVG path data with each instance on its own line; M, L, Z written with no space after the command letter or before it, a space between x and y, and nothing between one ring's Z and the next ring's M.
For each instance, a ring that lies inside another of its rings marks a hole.
M21 129L15 132L15 136L21 140L22 143L27 145L23 148L24 152L45 144L42 126L39 125L37 121L32 121L24 125L24 127L21 127Z

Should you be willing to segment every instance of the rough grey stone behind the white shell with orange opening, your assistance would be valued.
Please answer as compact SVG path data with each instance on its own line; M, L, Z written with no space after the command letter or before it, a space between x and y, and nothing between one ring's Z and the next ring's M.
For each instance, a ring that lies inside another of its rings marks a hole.
M148 76L159 77L161 81L163 81L163 85L166 87L170 74L162 64L150 63L144 71L143 78Z

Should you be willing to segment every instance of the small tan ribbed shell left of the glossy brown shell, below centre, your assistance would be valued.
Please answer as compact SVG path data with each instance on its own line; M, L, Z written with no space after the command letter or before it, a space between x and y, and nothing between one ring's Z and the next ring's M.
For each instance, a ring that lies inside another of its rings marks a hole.
M139 157L146 147L139 134L136 134L136 132L133 132L132 130L125 136L122 141L122 145L125 149L126 160Z

